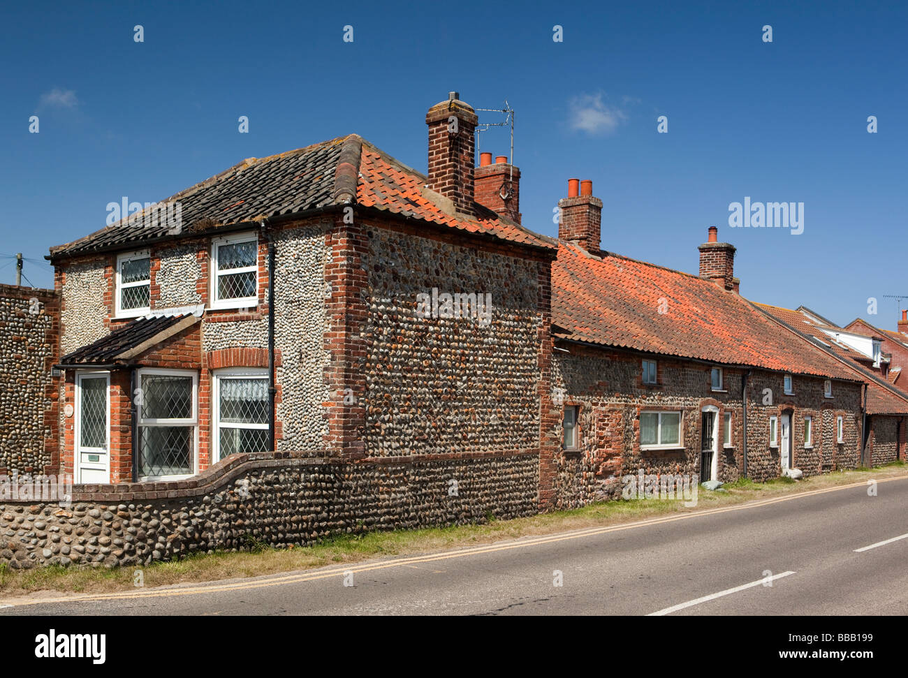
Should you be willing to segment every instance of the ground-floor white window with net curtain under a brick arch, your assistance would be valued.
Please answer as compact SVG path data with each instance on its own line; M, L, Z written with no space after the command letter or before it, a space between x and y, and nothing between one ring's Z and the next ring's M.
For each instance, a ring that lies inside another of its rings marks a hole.
M212 464L246 452L268 452L268 370L225 368L213 373Z

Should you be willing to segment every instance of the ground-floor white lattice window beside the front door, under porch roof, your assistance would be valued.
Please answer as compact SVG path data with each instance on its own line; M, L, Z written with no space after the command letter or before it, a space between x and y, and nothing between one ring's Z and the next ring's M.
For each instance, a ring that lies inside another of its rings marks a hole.
M140 480L179 479L197 470L199 375L186 369L142 368L138 409Z

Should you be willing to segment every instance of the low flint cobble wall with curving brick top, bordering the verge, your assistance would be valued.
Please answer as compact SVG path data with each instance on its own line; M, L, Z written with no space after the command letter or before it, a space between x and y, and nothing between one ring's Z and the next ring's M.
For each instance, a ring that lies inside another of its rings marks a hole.
M2 503L0 563L148 565L538 510L538 454L356 463L307 454L237 455L187 481L75 486L69 507Z

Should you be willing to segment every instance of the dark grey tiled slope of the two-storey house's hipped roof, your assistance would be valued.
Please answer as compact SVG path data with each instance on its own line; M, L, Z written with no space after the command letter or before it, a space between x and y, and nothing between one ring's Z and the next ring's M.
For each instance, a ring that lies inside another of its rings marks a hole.
M334 201L335 172L345 140L354 142L358 154L360 139L351 134L268 158L250 158L161 202L180 203L183 235L329 205ZM51 248L51 256L173 237L168 228L122 220Z

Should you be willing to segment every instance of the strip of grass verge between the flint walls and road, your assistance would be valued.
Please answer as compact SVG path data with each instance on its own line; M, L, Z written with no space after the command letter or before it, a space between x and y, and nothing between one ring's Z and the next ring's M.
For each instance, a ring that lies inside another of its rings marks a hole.
M144 588L192 584L274 575L326 565L352 564L380 557L425 554L524 536L618 525L674 513L691 513L777 496L803 494L872 479L905 476L908 476L908 467L899 461L884 467L840 471L798 481L775 478L765 483L755 483L749 479L739 479L723 486L724 491L710 492L699 487L697 503L693 507L684 506L683 500L668 499L600 502L538 516L512 520L494 519L482 525L344 535L311 546L271 548L256 545L252 552L196 554L179 561L137 567L93 569L56 565L17 571L0 564L0 602L6 598L31 597L48 591L76 594L127 591L135 589L140 582Z

